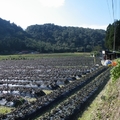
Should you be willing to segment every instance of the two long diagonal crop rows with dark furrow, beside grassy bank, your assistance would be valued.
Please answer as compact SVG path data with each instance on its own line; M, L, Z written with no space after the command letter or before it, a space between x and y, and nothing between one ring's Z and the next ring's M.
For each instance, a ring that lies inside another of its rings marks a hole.
M109 79L109 69L101 67L80 80L54 90L10 113L3 120L70 120L77 110L83 109L87 100ZM44 99L44 100L43 100ZM41 102L43 101L43 102ZM41 117L40 117L41 116Z

